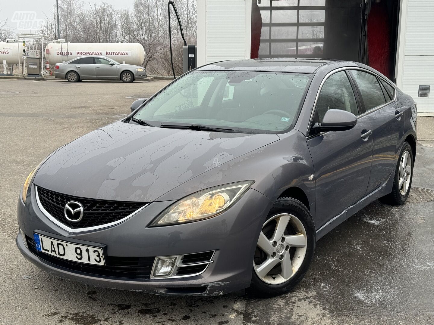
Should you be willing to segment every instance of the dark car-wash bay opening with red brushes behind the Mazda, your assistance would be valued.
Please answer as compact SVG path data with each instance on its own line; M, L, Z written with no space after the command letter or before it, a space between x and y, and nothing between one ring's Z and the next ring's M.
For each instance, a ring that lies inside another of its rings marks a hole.
M362 62L395 81L399 0L253 0L252 58Z

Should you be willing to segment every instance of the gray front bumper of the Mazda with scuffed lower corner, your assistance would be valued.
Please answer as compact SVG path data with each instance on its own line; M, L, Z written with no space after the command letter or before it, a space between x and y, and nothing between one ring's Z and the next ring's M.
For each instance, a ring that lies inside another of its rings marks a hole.
M254 189L249 189L227 211L203 221L146 227L156 215L173 203L164 201L151 203L128 220L113 227L69 233L40 211L36 204L34 186L30 198L26 205L21 199L18 202L18 223L28 237L33 237L34 231L43 231L57 237L61 236L66 241L85 240L105 244L106 254L115 257L157 257L215 250L214 263L209 264L200 275L136 280L99 276L47 262L26 247L21 234L16 238L16 245L23 256L47 273L91 286L164 295L218 296L250 286L257 236L263 218L271 206L268 198Z

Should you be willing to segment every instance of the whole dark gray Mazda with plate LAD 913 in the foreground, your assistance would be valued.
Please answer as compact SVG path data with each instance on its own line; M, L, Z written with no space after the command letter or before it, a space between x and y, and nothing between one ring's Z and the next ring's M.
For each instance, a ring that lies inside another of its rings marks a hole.
M16 244L92 286L276 296L316 240L376 199L406 201L415 151L416 104L366 65L213 63L46 157Z

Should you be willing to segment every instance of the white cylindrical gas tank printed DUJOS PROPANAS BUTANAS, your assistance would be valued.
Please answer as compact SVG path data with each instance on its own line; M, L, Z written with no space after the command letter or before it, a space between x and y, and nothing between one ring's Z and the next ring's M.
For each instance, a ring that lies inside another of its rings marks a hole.
M141 65L145 49L139 43L48 43L45 48L46 59L53 63L84 55L108 56L120 63Z

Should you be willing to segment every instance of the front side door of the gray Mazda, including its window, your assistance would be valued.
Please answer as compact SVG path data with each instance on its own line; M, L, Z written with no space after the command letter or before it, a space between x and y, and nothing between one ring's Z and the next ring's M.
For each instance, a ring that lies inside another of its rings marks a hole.
M371 173L371 124L360 114L354 84L345 70L325 80L314 107L313 123L321 123L329 109L347 110L358 120L351 130L322 133L312 130L307 138L315 170L318 228L364 197Z

